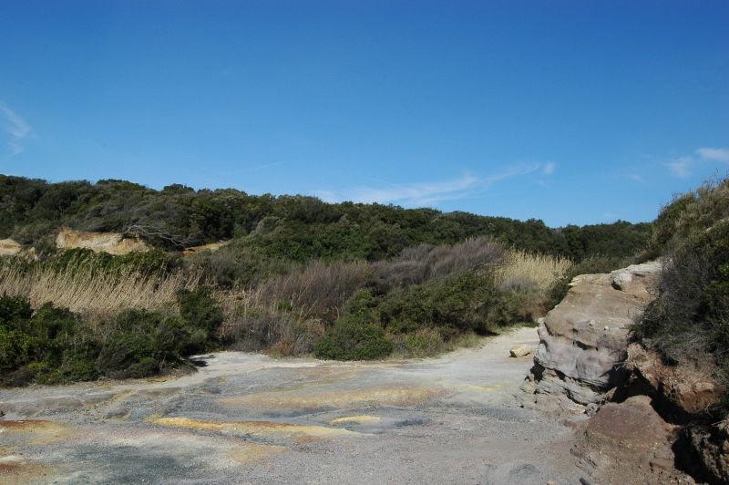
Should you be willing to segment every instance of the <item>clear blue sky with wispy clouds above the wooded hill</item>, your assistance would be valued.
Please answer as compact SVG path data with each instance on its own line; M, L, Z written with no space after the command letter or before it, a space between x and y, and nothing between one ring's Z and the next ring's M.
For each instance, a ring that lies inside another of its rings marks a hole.
M729 2L0 1L0 173L649 221L729 173Z

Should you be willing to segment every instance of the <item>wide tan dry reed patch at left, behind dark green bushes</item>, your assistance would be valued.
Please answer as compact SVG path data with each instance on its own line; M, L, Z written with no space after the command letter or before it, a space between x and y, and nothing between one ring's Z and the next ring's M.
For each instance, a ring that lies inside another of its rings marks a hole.
M181 288L194 289L200 274L140 274L137 271L103 273L92 268L57 271L36 267L20 271L0 267L0 294L25 296L33 307L50 302L73 312L112 315L126 308L158 310L175 302Z

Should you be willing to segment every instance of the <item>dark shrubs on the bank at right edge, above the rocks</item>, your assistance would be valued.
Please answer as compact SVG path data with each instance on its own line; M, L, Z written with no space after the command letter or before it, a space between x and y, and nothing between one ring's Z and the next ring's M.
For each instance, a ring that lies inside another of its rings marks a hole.
M663 208L643 257L656 255L661 293L634 334L668 362L716 366L729 384L729 179Z

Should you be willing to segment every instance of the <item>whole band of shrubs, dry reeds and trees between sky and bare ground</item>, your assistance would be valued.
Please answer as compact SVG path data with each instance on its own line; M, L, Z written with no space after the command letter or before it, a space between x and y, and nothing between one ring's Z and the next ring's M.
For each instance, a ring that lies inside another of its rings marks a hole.
M2 383L146 377L211 349L432 356L544 315L570 275L644 249L648 224L549 229L463 212L126 181L0 176ZM62 226L156 249L56 252ZM217 252L178 250L231 239Z

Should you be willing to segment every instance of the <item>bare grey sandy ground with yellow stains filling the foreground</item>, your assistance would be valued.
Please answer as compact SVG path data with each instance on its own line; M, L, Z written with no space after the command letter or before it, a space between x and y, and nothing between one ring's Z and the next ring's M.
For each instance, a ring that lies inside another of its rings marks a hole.
M0 482L579 483L571 429L519 408L521 328L432 359L224 352L166 381L0 391Z

